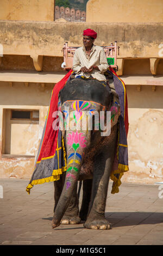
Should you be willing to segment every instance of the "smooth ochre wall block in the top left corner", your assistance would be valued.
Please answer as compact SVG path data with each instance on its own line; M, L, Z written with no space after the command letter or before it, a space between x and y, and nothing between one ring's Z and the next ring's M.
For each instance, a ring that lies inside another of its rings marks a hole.
M0 20L54 20L54 0L1 0L0 5Z

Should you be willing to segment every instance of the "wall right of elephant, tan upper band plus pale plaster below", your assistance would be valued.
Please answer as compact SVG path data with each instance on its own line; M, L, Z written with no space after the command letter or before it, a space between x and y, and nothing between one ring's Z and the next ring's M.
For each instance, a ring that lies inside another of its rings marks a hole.
M163 87L127 86L129 172L123 181L152 183L163 178Z

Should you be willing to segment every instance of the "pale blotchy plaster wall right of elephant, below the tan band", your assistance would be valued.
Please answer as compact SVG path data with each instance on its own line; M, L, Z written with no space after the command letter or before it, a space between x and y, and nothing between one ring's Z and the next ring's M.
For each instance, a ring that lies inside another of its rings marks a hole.
M130 171L124 174L123 180L141 183L162 181L163 111L162 109L129 109L129 117L131 115L135 116L135 120L130 119L128 134Z

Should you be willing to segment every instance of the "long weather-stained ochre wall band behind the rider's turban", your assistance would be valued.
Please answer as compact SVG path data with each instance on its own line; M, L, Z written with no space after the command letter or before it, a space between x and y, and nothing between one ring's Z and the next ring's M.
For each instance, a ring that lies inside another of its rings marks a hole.
M39 22L0 21L1 44L4 54L62 57L66 41L82 46L83 30L91 27L98 33L97 45L109 45L117 40L120 58L159 57L163 23L101 23L101 22ZM149 36L150 35L150 36Z

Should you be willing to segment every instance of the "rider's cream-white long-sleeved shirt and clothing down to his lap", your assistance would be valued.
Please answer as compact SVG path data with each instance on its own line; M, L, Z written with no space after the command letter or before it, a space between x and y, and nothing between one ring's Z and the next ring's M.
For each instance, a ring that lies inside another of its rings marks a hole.
M83 73L80 71L82 67L86 66L86 68L89 69L92 65L98 66L99 70L93 69L90 73ZM72 70L77 75L82 75L87 78L92 76L99 81L106 81L104 72L108 69L108 67L109 65L106 55L101 46L93 45L90 56L86 54L85 46L77 48L74 53Z

